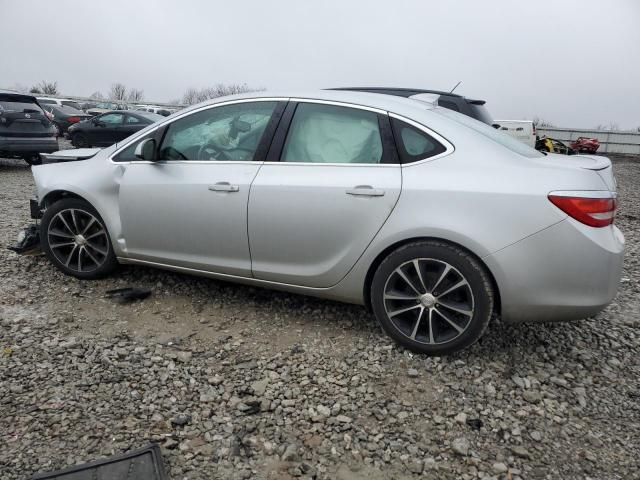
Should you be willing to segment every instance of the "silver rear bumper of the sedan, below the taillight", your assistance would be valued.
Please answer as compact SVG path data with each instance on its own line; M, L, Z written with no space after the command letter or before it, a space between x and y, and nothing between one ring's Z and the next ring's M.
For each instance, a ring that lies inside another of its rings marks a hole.
M553 322L595 315L615 297L624 236L567 218L484 258L507 322Z

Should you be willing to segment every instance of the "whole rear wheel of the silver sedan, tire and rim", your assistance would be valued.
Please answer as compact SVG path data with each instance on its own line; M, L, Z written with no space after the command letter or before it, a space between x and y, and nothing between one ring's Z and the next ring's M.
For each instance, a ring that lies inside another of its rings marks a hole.
M491 279L479 261L441 241L398 248L371 282L371 306L384 331L427 355L447 355L474 344L489 325L493 299Z

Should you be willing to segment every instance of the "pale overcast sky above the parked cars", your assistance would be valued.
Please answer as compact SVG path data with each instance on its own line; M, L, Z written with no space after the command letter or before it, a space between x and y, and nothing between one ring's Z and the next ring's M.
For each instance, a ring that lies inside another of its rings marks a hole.
M403 86L494 118L640 126L640 0L0 0L0 87Z

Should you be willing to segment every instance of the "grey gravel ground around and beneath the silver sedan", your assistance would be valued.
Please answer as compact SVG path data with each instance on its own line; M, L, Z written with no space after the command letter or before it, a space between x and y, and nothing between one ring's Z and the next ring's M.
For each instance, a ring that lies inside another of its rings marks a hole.
M640 162L615 164L616 300L564 324L492 324L447 358L364 309L123 267L82 283L0 250L0 478L158 442L172 479L640 478ZM0 244L30 170L0 160ZM107 289L153 289L120 305Z

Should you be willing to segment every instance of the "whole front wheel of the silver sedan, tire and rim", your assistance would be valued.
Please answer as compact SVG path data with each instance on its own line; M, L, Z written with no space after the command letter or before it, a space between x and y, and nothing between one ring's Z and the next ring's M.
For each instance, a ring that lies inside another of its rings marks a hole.
M40 243L60 271L76 278L103 278L118 266L104 221L79 198L64 198L45 210Z

